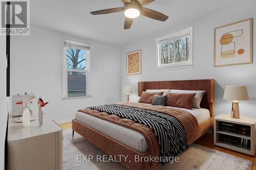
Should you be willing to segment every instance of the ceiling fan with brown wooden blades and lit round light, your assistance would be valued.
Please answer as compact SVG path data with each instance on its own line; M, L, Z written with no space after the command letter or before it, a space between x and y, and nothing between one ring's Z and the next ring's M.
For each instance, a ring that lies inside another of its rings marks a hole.
M91 14L108 14L113 12L124 11L125 20L124 20L124 29L130 29L133 23L133 18L138 17L140 14L152 19L165 21L168 19L168 16L154 11L152 9L144 8L143 6L152 3L155 0L121 0L124 3L124 7L120 8L110 8L99 11L93 11Z

